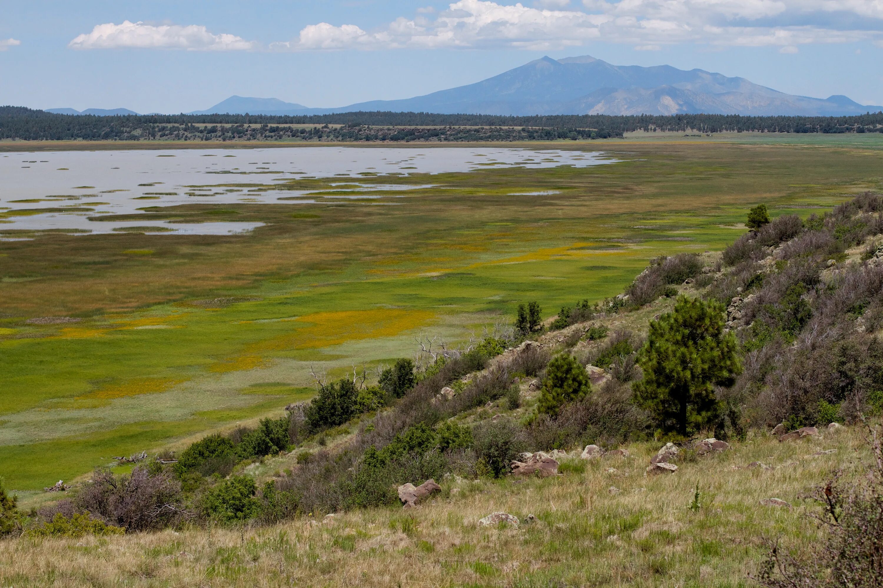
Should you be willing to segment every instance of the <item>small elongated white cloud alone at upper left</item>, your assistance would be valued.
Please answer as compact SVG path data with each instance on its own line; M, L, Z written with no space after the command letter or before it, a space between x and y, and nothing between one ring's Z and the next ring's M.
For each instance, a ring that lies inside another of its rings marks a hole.
M163 48L191 51L242 51L257 48L235 34L209 33L200 25L146 25L143 22L96 25L91 33L80 34L68 44L75 49Z

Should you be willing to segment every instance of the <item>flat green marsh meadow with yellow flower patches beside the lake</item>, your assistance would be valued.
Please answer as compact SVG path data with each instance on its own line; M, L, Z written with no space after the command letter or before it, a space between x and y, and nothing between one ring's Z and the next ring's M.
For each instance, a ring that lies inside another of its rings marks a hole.
M883 189L883 135L852 138L570 142L555 148L619 162L360 177L431 185L370 200L299 179L315 203L138 215L265 223L250 234L7 235L30 240L0 242L0 476L35 490L278 414L312 374L480 338L519 301L551 316L621 292L652 257L722 249L750 205L807 216Z

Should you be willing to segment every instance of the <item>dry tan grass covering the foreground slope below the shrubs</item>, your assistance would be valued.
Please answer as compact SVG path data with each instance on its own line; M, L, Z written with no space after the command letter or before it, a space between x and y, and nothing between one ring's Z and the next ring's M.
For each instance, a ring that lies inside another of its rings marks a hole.
M647 478L658 446L630 445L632 458L594 461L584 471L575 461L554 479L445 480L442 495L416 510L254 529L4 540L0 585L751 585L764 538L796 547L822 537L800 496L835 467L858 475L867 458L854 429L792 443L759 435ZM830 449L837 451L813 455ZM774 469L743 468L752 461ZM687 507L697 483L702 506L694 511ZM793 508L758 503L771 497ZM538 520L518 529L477 525L496 510Z

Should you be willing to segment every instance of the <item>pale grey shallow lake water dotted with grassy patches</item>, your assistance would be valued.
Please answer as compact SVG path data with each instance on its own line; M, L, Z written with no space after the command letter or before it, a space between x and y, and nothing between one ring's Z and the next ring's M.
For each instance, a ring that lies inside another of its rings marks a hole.
M370 176L466 172L485 167L588 167L614 160L601 153L557 149L423 150L370 147L182 149L8 153L0 157L0 234L10 230L71 230L83 234L126 230L168 234L237 234L259 222L171 223L97 221L102 214L132 214L152 206L213 204L302 205L373 200L425 185L367 184ZM328 190L290 190L298 178L339 177ZM260 185L260 187L259 187ZM274 187L275 185L275 187ZM146 227L155 230L149 231Z

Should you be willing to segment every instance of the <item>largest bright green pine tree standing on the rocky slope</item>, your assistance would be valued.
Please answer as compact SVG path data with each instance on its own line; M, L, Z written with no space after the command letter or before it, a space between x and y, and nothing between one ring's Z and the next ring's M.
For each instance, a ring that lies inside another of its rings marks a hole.
M724 320L720 303L680 296L674 312L651 321L638 354L644 379L634 391L664 431L686 436L717 417L713 385L731 384L742 369Z

